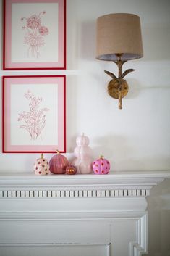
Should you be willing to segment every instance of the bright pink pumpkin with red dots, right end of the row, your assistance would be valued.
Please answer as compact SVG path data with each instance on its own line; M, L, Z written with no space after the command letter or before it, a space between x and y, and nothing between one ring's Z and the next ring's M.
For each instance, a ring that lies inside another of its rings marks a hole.
M93 162L93 172L95 174L108 174L110 170L110 162L103 158L99 158Z

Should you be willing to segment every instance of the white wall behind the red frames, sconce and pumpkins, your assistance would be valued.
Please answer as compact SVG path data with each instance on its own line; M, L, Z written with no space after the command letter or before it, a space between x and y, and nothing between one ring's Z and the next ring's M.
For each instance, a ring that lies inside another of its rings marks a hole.
M127 76L129 94L123 100L123 110L118 109L117 101L106 92L109 76L103 70L116 73L116 65L95 60L95 20L111 12L139 15L143 33L144 57L124 65L124 68L136 71ZM0 75L67 75L69 158L75 148L76 136L84 132L90 137L93 157L104 154L111 160L112 171L169 170L169 13L169 0L67 0L67 70L0 71ZM36 157L35 154L0 153L0 171L30 172ZM155 195L163 193L163 186L166 194L170 194L169 185L163 183L150 198L149 218L153 226L163 228L163 210L155 209L154 200ZM164 236L168 234L167 229L163 231ZM150 256L162 256L165 241L161 234L155 239L152 226L150 232L153 252ZM165 255L168 251L170 248L166 243Z

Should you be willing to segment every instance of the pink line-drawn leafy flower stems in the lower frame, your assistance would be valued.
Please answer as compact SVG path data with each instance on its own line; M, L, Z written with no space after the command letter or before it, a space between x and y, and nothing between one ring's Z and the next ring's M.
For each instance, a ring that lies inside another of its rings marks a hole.
M49 110L43 107L41 110L40 104L42 102L41 97L35 97L34 94L28 90L25 93L25 98L29 100L30 112L23 111L19 114L18 121L23 121L24 124L20 125L20 128L24 128L29 134L30 139L38 139L40 136L42 139L42 130L46 126L45 113Z

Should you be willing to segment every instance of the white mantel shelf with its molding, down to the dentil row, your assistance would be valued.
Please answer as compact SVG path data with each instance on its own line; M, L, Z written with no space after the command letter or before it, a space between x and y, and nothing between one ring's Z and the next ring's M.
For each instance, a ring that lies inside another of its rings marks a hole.
M0 173L0 188L36 188L62 190L78 189L148 189L165 178L170 178L170 170L114 172L109 175L48 175L35 176L33 173ZM26 190L26 189L25 189Z

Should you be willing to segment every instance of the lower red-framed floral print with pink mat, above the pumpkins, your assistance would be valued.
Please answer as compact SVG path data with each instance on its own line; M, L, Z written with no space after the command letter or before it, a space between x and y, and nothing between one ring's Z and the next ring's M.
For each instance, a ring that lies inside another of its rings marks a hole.
M2 81L2 152L66 152L65 75Z

